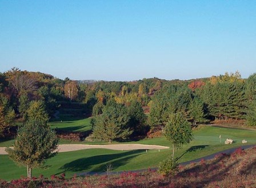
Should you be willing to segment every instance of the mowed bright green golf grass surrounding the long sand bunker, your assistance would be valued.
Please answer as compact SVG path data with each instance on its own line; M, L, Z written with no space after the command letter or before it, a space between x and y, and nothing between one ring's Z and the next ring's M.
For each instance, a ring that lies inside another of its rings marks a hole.
M219 139L221 135L221 140ZM226 138L235 141L232 145L225 145ZM248 144L256 144L256 132L253 130L239 130L229 128L217 128L212 126L202 126L194 130L194 139L182 149L177 150L176 157L179 162L185 162L208 156L225 149L235 148L242 145L242 140L248 141ZM81 142L81 144L90 144ZM123 144L151 144L171 146L170 142L164 137L145 139L137 142L126 142ZM130 150L117 151L107 149L89 149L75 152L59 153L57 156L49 159L46 165L48 169L35 169L33 175L38 177L40 174L49 177L52 174L66 173L67 177L72 177L75 173L90 171L106 171L106 165L111 164L113 171L139 170L149 167L157 167L159 162L164 160L171 149L164 150ZM26 167L17 167L13 161L9 160L7 155L0 155L0 178L17 179L21 175L26 176Z

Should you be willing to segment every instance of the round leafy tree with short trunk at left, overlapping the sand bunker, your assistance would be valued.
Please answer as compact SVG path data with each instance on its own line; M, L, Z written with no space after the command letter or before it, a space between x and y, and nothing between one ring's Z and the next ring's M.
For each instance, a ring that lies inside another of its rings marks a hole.
M31 178L32 169L44 167L48 158L57 154L58 138L45 122L29 120L18 129L13 148L7 148L9 158L27 167L27 177Z

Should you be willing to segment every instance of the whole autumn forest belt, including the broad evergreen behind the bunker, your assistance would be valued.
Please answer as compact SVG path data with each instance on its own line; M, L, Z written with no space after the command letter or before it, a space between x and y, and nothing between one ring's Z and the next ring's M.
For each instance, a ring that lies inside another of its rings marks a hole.
M17 122L49 121L59 109L81 108L74 116L90 117L93 137L137 137L165 126L173 113L191 125L214 120L242 120L256 125L256 73L239 72L203 79L78 81L58 79L19 68L0 73L0 135L12 136Z

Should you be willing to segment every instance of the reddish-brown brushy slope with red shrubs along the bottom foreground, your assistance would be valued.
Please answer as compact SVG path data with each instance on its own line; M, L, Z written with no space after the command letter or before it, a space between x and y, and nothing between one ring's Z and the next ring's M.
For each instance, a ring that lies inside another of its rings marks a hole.
M201 160L186 166L179 165L174 175L163 176L147 169L142 172L106 175L86 175L66 178L66 174L45 178L21 178L0 181L1 187L256 187L256 148L237 149L230 155L219 154L213 160Z

